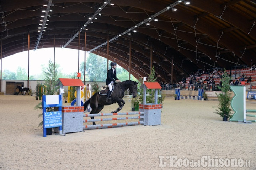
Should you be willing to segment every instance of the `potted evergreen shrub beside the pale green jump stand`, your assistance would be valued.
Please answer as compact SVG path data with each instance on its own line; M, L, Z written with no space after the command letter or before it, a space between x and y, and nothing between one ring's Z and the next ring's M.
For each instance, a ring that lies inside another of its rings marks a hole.
M230 82L231 77L228 76L226 73L226 70L224 69L224 74L222 75L222 86L217 86L218 89L222 91L222 93L217 94L219 105L218 109L216 109L217 114L219 114L221 117L227 116L228 118L231 118L231 108L230 108L230 102L231 102L231 92L230 92Z

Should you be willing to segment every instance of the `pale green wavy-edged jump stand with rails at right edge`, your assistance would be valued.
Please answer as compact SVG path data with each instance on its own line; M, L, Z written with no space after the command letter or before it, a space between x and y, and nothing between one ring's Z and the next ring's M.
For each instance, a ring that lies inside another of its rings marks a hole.
M234 97L231 100L231 108L234 110L234 114L230 121L237 121L241 123L256 122L256 120L246 120L246 117L256 117L256 115L246 114L248 112L256 113L256 110L246 109L246 93L245 86L231 86L230 89L234 92Z

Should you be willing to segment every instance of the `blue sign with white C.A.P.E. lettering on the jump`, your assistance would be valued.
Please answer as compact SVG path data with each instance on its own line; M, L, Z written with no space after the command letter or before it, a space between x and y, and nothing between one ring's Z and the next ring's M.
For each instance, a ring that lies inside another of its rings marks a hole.
M44 128L54 128L62 126L62 112L44 112Z

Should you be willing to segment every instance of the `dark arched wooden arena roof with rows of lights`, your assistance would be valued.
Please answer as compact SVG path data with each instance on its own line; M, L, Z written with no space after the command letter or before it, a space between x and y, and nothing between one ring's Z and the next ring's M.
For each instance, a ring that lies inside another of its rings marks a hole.
M150 73L152 51L159 81L172 67L177 81L256 62L256 0L1 0L0 11L2 57L28 50L29 33L30 50L55 44L103 57L109 37L110 60L128 70L131 53L136 78Z

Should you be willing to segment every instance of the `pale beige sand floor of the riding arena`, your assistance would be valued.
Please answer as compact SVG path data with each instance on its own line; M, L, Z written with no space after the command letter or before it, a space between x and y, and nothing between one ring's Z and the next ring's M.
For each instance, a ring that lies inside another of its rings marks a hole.
M167 97L162 125L47 137L43 137L42 127L38 127L42 118L38 118L41 111L33 109L37 103L39 100L31 96L0 96L0 170L256 169L256 123L223 122L214 113L217 101ZM106 106L102 112L109 113L117 107L117 104ZM247 104L247 109L256 109L256 105ZM128 111L130 102L126 101L121 112ZM204 155L217 159L242 158L245 163L250 162L250 168L173 168L169 167L171 155L182 158L183 162L197 161ZM159 167L164 163L166 167Z

